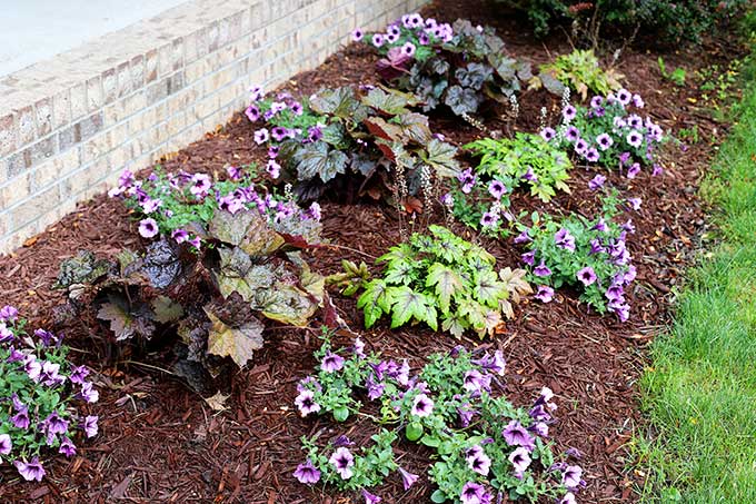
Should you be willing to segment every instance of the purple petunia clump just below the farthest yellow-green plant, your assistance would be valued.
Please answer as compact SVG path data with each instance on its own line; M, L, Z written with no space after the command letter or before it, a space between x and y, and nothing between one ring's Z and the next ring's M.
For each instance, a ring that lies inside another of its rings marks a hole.
M639 115L644 106L639 95L626 89L593 97L588 107L567 102L560 126L544 128L540 135L555 146L571 150L583 161L619 167L628 178L646 166L653 166L653 175L658 175L662 168L656 162L656 151L665 135L650 117Z

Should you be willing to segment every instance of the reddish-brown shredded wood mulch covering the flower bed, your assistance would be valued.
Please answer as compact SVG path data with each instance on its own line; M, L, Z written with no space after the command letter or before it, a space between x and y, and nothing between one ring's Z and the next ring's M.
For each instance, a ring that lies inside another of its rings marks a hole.
M496 4L446 0L430 6L426 14L449 21L467 17L474 23L494 24L514 55L534 63L570 50L563 37L541 43L525 36L521 22ZM690 61L695 66L722 65L737 52L737 48L719 41L705 50L665 55L665 60L668 67L686 65L690 70ZM695 89L674 88L662 79L656 58L646 51L625 49L619 70L627 76L628 89L646 99L646 110L665 129L677 131L698 125L699 136L716 142L723 127L689 100L698 98ZM375 60L372 52L351 45L284 88L309 93L325 86L375 83ZM525 91L519 102L521 113L514 129L533 131L538 126L540 108L547 107L554 118L559 100L545 91ZM432 117L432 122L436 131L458 144L481 136L448 117ZM508 125L491 126L497 127L505 129ZM220 171L228 162L261 161L265 151L256 148L252 132L239 113L162 165L169 170ZM544 385L554 389L559 404L558 423L551 429L557 448L576 447L584 454L581 465L588 486L580 493L580 502L631 502L634 485L643 483L643 475L628 468L631 459L624 448L641 422L637 381L645 365L645 347L668 322L670 293L707 228L706 209L696 197L696 188L712 150L707 141L685 151L673 145L662 177L651 178L648 171L634 180L616 172L609 175L609 181L625 195L643 198L639 215L631 216L637 233L628 241L638 266L628 323L598 316L578 303L573 293L563 291L550 305L534 302L517 307L516 319L507 324L506 334L495 339L462 340L468 346L485 344L504 350L507 394L516 405L529 405ZM576 168L571 171L571 194L560 194L548 205L528 198L517 205L588 214L595 197L587 181L594 175ZM396 211L385 206L332 201L324 205L322 215L326 237L341 246L314 254L311 263L325 274L337 271L342 258L370 263L371 257L400 240ZM469 237L465 228L455 229ZM98 196L23 248L0 258L1 302L17 305L34 327L50 326L52 308L63 300L62 293L50 289L61 259L82 248L112 255L122 247L142 245L122 205ZM485 245L500 266L518 264L519 250L510 244L486 240ZM332 294L345 320L355 329L361 328L355 300ZM103 362L92 342L106 334L101 326L86 325L70 327L67 333L68 343L76 348L73 358L100 374L101 399L91 408L100 415L100 435L82 444L73 459L48 462L48 476L40 484L20 481L8 467L0 471L3 502L361 502L355 495L327 493L321 487L308 490L291 475L302 461L299 437L320 429L330 434L332 427L326 421L300 418L292 405L297 381L316 364L311 357L319 345L315 327L269 327L266 348L232 377L229 409L222 413L212 412L180 379L160 370L168 365L153 355L135 355L130 362ZM372 349L416 356L416 366L424 356L459 343L425 327L391 332L385 323L362 334ZM358 443L372 434L369 425L356 422L344 427ZM401 465L425 474L427 458L415 445L401 445L399 456ZM404 492L398 477L392 476L377 493L386 503L426 502L430 494L427 483L421 476L420 484Z

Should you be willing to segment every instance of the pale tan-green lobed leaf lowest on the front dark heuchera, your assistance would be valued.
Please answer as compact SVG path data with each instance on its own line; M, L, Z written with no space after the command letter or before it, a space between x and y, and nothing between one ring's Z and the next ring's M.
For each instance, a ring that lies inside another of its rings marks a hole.
M231 357L239 367L242 367L252 358L255 350L262 348L265 326L257 318L251 318L238 327L231 327L207 307L205 313L212 323L208 334L208 354Z

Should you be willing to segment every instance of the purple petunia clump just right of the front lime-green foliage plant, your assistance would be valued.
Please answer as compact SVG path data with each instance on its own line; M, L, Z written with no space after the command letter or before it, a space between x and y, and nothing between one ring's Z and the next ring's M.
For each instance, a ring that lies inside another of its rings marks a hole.
M529 279L538 286L536 298L549 303L554 289L575 286L580 299L599 313L614 313L621 322L629 318L630 306L625 289L636 277L636 268L626 239L635 233L631 220L618 224L618 199L604 198L604 209L594 219L570 214L560 219L533 214L533 226L520 225L515 243L528 251L523 261L529 267ZM628 200L637 207L639 201Z

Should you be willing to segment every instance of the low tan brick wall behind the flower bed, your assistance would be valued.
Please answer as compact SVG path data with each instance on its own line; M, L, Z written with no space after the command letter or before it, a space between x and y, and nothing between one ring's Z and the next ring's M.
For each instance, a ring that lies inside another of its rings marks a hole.
M0 78L0 254L424 0L196 0Z

